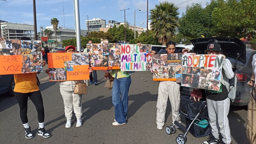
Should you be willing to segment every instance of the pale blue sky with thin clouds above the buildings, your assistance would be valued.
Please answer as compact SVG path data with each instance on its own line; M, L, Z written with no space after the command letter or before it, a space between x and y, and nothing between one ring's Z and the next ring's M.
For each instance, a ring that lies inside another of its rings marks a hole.
M154 8L155 4L166 0L149 0L149 9ZM186 0L167 0L174 4L179 4ZM210 0L190 0L184 4L178 5L180 13L185 12L186 6L192 3L201 3L203 7ZM33 1L32 0L7 0L0 1L0 18L1 20L12 23L34 24L33 20ZM146 27L147 0L79 0L80 7L80 27L86 29L85 20L102 18L106 20L124 21L124 12L126 10L126 20L134 24L134 9L136 11L136 26L144 21L142 27ZM51 26L50 19L58 18L59 26L64 26L62 0L36 0L37 8L37 29L40 25ZM73 0L64 0L65 26L74 27L74 9ZM181 14L180 14L181 16ZM43 27L45 27L43 26Z

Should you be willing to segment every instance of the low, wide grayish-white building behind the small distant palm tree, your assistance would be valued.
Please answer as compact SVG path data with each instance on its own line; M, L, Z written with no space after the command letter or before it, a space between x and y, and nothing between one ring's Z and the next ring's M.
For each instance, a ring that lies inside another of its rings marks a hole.
M53 30L53 26L46 27L46 29L50 29L52 31L52 36L49 40L55 40L55 33ZM43 28L43 31L45 28ZM87 30L80 30L81 35L83 37L87 37ZM90 32L90 31L89 31ZM46 35L43 32L43 35ZM62 40L69 40L76 37L75 28L74 27L58 27L56 30L57 41L62 42Z

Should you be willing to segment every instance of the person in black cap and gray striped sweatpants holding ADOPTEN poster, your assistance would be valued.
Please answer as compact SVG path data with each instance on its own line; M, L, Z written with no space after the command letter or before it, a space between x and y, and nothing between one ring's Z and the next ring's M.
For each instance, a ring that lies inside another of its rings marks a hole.
M206 54L221 55L221 46L219 43L209 43ZM193 56L196 54L193 53ZM216 70L215 79L219 78L220 70ZM222 141L226 144L231 143L230 129L229 129L229 97L235 94L231 91L229 92L229 79L232 79L234 72L232 71L231 62L226 59L225 55L222 57L222 70L220 75L220 86L213 82L212 87L215 90L206 90L206 102L207 110L209 115L209 122L212 128L212 135L210 139L204 141L203 144L214 144L219 143L219 132L221 133L223 139ZM215 80L216 81L216 80Z

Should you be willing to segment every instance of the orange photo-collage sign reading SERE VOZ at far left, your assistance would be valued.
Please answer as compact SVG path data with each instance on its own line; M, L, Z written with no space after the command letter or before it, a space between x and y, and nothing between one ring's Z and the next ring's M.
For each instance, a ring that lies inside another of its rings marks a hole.
M0 75L41 72L41 41L0 40Z

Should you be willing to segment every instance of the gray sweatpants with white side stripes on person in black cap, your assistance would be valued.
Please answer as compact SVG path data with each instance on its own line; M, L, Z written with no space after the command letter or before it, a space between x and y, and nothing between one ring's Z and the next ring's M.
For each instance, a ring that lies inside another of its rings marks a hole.
M220 133L223 137L222 141L229 144L231 142L228 119L230 106L229 98L223 101L213 101L206 98L206 102L213 136L219 138Z

